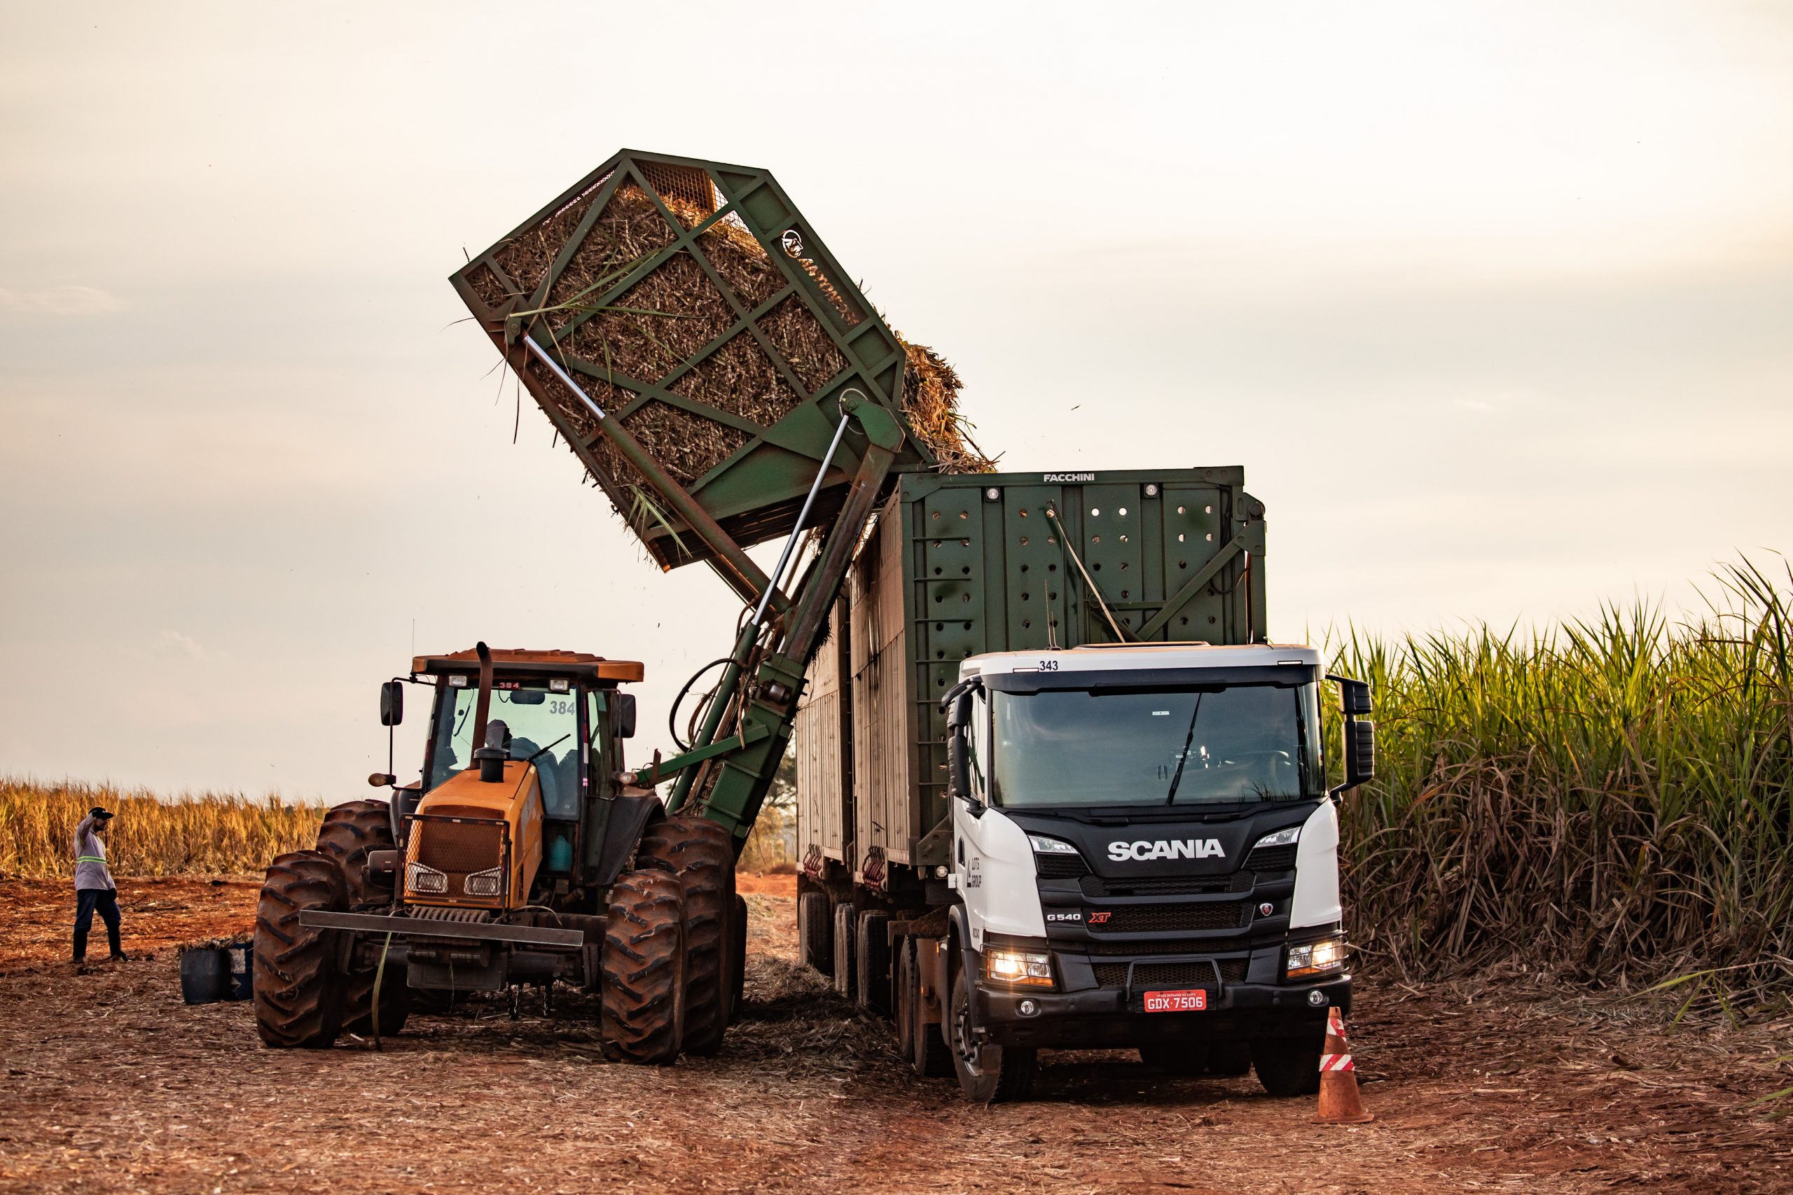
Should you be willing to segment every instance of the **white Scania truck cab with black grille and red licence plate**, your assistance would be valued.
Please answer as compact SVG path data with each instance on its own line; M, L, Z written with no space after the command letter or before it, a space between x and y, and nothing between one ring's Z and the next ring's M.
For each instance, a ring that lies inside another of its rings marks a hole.
M1327 1009L1350 1009L1327 679L1312 647L1277 643L961 663L945 699L956 962L940 989L968 1091L1038 1046L1255 1066L1271 1093L1311 1089ZM1361 783L1368 690L1341 684L1347 783Z

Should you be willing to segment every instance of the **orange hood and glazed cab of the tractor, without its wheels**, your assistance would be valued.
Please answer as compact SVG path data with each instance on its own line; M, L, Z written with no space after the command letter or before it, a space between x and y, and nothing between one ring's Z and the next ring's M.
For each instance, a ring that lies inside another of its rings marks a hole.
M635 695L619 684L640 681L640 663L473 649L418 656L411 679L436 701L421 781L393 803L403 903L559 903L611 871L606 831L635 733Z

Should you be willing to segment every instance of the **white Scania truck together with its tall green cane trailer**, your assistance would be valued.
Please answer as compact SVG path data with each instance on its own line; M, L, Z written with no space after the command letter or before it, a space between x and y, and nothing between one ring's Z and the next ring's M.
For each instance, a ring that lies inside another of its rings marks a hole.
M974 1100L1024 1098L1040 1048L1318 1086L1370 692L1255 634L1241 480L904 478L836 607L798 718L805 959ZM963 650L997 618L1051 641ZM1187 618L1219 643L1151 638Z

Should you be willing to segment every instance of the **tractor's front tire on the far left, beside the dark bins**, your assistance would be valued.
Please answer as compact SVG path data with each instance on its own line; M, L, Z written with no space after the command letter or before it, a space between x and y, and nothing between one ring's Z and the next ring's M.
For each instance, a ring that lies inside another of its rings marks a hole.
M255 1027L276 1050L326 1050L342 1032L337 932L299 924L305 910L342 912L335 856L292 851L267 867L255 907Z

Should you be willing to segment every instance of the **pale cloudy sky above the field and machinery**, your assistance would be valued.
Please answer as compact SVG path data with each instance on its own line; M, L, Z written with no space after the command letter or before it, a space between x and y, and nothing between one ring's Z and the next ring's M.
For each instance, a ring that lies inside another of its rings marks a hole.
M733 600L445 281L620 147L771 168L1004 468L1243 464L1277 638L1793 548L1788 5L7 0L0 774L351 799L477 638L669 747Z

